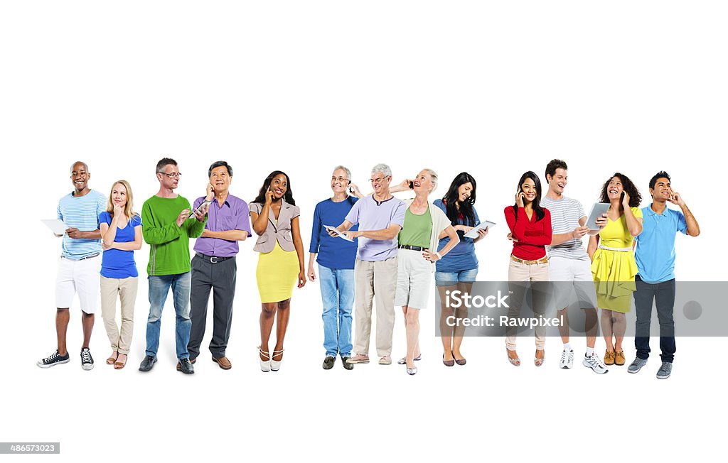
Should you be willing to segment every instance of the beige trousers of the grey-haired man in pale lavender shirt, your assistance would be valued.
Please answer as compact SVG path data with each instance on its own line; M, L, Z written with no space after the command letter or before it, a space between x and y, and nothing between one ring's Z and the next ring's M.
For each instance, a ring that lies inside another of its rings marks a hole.
M376 299L376 353L379 357L392 355L397 257L379 262L357 259L354 265L354 278L354 352L369 355L371 308L373 300Z

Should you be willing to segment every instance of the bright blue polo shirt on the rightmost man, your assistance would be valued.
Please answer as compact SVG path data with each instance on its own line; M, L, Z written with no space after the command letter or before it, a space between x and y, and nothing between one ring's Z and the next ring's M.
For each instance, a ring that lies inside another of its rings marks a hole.
M639 277L646 283L662 283L675 278L675 235L687 234L682 212L668 209L662 214L652 204L642 209L642 233L635 240L635 259Z

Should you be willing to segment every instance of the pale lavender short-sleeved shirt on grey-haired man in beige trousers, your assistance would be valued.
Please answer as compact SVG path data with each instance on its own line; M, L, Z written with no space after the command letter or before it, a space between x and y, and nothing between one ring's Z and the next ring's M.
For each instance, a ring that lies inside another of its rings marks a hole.
M406 210L407 206L405 206L404 202L394 196L379 203L374 199L373 195L369 195L352 206L346 220L354 225L359 224L359 230L364 231L384 230L384 228L389 228L389 225L392 224L403 227ZM396 255L397 236L391 240L373 240L363 236L359 238L357 259L366 262L379 262Z

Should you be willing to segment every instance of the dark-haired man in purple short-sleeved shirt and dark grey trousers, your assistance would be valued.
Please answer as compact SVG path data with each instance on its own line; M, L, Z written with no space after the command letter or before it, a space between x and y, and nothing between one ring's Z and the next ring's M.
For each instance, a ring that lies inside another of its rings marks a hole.
M192 258L192 286L190 293L192 328L189 335L190 361L199 355L199 346L205 336L207 301L213 291L213 339L210 353L221 369L229 370L232 363L226 356L232 322L232 303L235 296L235 277L238 241L250 235L248 203L229 194L232 182L232 166L217 161L207 171L210 185L207 196L197 198L194 208L204 201L211 201L207 212L207 224L202 235L194 243Z

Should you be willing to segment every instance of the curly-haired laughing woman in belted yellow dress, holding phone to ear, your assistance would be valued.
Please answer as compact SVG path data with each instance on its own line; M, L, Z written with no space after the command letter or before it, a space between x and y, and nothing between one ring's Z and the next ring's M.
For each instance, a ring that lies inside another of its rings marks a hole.
M637 262L633 251L635 236L642 232L639 190L624 174L617 172L604 183L601 202L609 203L607 225L589 238L587 252L592 259L597 305L601 308L604 331L605 365L624 365L622 339L627 330L625 313L630 311L635 291Z

